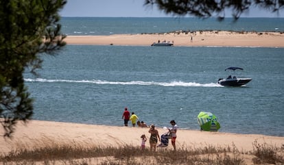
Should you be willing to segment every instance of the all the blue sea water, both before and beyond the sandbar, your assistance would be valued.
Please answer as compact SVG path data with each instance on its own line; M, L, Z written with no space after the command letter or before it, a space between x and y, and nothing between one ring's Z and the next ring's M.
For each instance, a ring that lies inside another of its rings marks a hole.
M62 18L67 35L160 33L178 30L284 31L284 18ZM158 39L158 38L157 38ZM151 43L150 43L151 44ZM43 55L39 77L25 73L34 120L123 126L124 107L139 120L199 130L212 112L221 132L284 136L284 49L67 45ZM225 71L229 66L243 71ZM219 78L250 77L224 87Z

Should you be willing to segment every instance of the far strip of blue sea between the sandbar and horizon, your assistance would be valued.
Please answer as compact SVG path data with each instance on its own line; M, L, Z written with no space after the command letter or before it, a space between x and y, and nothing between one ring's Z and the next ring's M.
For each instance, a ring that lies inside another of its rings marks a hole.
M67 35L110 35L163 33L169 31L284 31L284 18L99 18L63 17L62 31Z

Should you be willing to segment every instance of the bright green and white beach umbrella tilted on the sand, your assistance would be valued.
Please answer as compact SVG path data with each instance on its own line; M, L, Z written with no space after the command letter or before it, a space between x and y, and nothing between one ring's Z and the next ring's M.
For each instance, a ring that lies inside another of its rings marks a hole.
M217 117L211 112L200 112L198 114L198 124L202 131L218 131L221 127Z

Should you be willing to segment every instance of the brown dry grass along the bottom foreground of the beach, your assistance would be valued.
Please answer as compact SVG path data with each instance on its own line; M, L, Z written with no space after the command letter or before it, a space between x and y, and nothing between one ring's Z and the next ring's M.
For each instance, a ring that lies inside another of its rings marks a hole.
M72 164L72 165L120 165L120 164L246 164L244 155L251 155L255 164L284 164L284 147L253 143L254 151L241 153L231 147L207 146L200 149L158 149L156 152L140 147L105 147L78 142L54 142L37 140L36 147L30 149L26 144L19 149L0 155L0 164Z

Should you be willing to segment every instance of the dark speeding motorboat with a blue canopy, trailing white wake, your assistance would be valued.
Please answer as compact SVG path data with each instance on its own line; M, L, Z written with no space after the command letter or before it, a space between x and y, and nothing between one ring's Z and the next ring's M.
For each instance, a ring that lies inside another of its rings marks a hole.
M229 67L226 68L225 71L227 70L243 70L243 68L239 68L239 67ZM235 76L231 76L229 75L226 79L219 79L218 80L218 84L220 84L221 86L244 86L246 84L248 84L248 82L250 82L252 79L250 78L237 78Z

